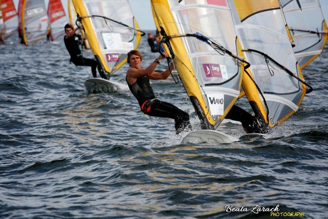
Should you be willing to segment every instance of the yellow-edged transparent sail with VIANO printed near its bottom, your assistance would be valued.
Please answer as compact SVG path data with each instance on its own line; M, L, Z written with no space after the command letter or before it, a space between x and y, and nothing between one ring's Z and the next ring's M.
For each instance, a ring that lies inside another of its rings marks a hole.
M151 3L161 43L173 58L200 127L213 133L236 102L248 66L239 56L229 5L211 0Z

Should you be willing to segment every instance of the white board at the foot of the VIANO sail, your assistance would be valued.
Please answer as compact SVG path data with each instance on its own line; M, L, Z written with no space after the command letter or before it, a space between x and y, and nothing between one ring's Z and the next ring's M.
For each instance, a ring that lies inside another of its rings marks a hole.
M198 130L187 134L181 143L231 143L239 141L238 138L215 130Z

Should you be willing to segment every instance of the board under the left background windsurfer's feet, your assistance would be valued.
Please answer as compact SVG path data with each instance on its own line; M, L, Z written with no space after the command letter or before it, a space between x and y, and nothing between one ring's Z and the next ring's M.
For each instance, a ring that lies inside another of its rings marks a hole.
M129 90L128 85L109 81L103 78L89 78L84 83L84 86L89 93L108 93L118 90Z

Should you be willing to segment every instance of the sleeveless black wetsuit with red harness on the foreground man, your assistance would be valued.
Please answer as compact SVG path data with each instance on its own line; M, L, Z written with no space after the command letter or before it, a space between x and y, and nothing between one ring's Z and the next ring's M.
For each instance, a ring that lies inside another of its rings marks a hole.
M138 77L133 85L129 85L128 83L128 86L137 99L142 112L150 116L173 118L176 134L179 134L185 128L191 129L189 114L187 112L180 110L170 103L156 99L148 76Z

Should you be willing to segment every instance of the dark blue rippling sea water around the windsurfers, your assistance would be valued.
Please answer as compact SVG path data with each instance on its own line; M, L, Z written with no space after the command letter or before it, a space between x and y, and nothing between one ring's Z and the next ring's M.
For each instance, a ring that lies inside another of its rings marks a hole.
M147 67L157 54L146 37L139 49ZM303 70L314 90L297 113L230 144L180 144L173 120L143 116L130 91L88 94L90 67L61 41L0 52L0 218L328 218L328 47ZM181 84L153 88L200 129Z

